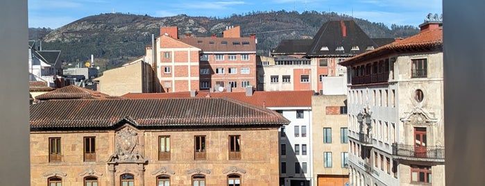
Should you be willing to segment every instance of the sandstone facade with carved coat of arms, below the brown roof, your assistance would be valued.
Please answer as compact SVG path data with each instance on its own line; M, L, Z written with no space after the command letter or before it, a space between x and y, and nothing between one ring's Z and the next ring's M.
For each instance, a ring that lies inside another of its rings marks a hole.
M194 136L204 135L206 160L194 160ZM229 136L240 136L240 160L229 160ZM169 136L170 158L159 160L159 137ZM60 162L49 162L49 141L60 138ZM95 158L84 160L85 137L95 139ZM99 185L120 185L133 174L135 185L157 185L169 176L171 185L191 185L205 176L205 185L226 185L228 175L244 185L278 185L278 127L194 130L143 130L125 124L114 130L31 132L31 185L58 177L62 185L83 185L88 176Z

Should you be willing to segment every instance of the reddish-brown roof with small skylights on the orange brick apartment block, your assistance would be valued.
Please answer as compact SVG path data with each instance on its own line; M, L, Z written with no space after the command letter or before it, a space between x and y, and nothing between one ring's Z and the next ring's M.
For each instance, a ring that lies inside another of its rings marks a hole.
M181 42L206 52L256 53L255 39L250 37L191 37L180 38Z

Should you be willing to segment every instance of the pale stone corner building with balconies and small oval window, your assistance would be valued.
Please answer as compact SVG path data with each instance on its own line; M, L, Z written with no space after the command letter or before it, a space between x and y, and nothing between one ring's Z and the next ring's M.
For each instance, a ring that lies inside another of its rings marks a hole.
M445 185L443 28L340 63L348 73L350 185Z

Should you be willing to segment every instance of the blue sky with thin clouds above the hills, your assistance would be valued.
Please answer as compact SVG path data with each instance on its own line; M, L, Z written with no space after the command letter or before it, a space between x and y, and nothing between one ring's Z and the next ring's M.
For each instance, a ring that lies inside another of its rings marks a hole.
M370 22L418 26L428 13L442 13L441 0L28 0L28 27L58 28L83 17L123 12L152 17L230 17L252 11L337 12Z

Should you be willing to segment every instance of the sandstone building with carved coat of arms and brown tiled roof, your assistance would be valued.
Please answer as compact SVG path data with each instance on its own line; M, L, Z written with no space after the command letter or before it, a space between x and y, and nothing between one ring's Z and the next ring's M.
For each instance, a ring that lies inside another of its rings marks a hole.
M277 112L228 98L31 105L31 185L278 185Z

